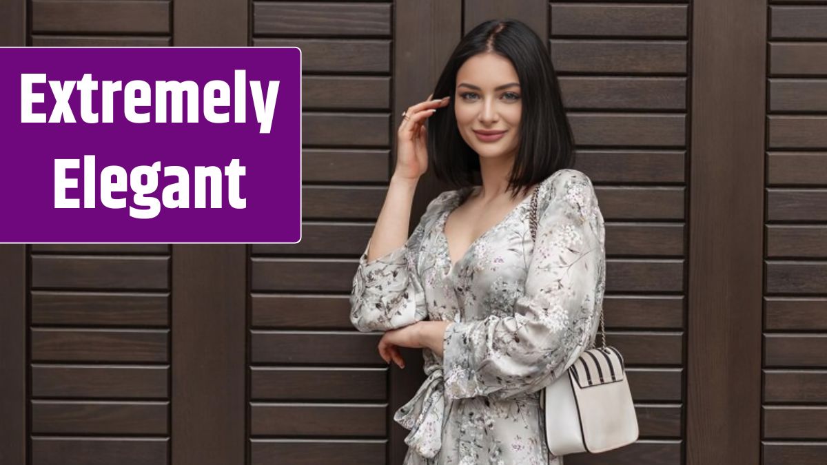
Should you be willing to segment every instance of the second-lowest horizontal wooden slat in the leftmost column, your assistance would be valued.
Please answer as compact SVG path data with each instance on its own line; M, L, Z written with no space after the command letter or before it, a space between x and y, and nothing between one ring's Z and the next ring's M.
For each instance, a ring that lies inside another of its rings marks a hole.
M31 401L35 434L168 434L169 402Z

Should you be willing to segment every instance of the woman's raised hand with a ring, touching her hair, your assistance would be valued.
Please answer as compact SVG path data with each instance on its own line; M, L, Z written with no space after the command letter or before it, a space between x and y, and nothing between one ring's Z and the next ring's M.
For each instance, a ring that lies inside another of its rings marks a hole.
M406 117L399 125L396 137L396 170L394 176L408 180L418 180L428 170L427 129L425 120L437 111L447 107L451 97L417 103L405 111Z

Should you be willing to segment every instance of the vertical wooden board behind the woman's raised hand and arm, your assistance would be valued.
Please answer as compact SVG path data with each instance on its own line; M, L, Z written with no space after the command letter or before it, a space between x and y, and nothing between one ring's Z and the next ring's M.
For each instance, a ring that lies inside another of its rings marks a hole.
M428 98L437 84L442 67L462 36L463 0L396 0L394 12L394 95L391 127L391 146L396 146L396 128L402 122L402 112L415 103ZM545 0L543 0L544 2ZM442 96L435 95L434 98ZM391 173L396 165L396 153L390 162ZM418 218L431 199L446 186L440 185L433 177L433 170L419 181L414 197L410 228L416 227ZM391 367L389 417L408 402L425 376L423 374L422 351L402 348L406 362L405 369ZM408 448L404 438L409 434L390 419L390 458L387 463L402 463Z

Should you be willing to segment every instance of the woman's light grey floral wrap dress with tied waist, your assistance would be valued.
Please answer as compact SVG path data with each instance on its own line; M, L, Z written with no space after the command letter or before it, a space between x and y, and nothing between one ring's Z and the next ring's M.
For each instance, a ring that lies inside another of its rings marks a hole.
M605 228L590 179L563 169L471 243L452 266L445 221L473 187L428 204L402 247L362 254L351 323L362 332L424 319L452 322L443 356L395 412L410 429L405 465L562 465L548 451L540 395L595 341L605 290Z

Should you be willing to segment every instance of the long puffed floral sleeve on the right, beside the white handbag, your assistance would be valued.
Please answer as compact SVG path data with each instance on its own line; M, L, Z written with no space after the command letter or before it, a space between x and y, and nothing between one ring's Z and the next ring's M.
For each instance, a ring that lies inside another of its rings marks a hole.
M450 399L539 391L594 341L605 290L603 216L585 174L566 169L552 176L546 194L538 192L537 238L514 314L446 328Z

